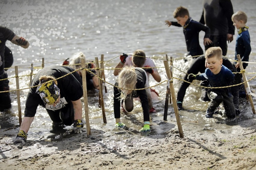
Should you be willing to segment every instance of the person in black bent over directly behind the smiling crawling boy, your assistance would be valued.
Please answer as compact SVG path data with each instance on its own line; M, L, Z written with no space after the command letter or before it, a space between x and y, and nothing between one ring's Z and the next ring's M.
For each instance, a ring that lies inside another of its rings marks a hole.
M228 69L230 69L232 72L236 72L236 68L227 59L227 57L223 57L223 63L222 64L224 66L226 66ZM206 68L207 68L207 66L206 66L205 56L201 55L200 57L198 57L197 59L194 60L194 62L191 64L191 66L187 70L187 74L184 76L183 79L185 81L188 81L188 82L191 83L193 80L188 80L188 75L191 74L191 73L196 75L198 72L204 73ZM236 84L241 82L241 77L240 77L239 74L236 74L235 81L236 81ZM189 85L190 85L189 83L186 83L186 82L182 81L182 83L179 87L178 94L177 94L177 105L178 105L179 110L183 110L182 103L183 103L183 99L184 99L186 90L187 90ZM201 84L201 85L202 86L208 86L209 82L208 81L203 81L203 84ZM240 113L240 111L239 111L239 87L238 86L231 87L231 94L233 95L233 103L234 103L235 108L236 108L236 115L239 115L239 113ZM206 88L202 89L201 99L203 101L209 101L209 98L207 96L207 89Z

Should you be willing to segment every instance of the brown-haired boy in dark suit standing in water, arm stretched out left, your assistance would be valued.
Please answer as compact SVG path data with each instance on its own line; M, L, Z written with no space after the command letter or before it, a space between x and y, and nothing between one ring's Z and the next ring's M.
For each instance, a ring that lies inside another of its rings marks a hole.
M199 56L203 54L203 49L199 44L199 32L204 31L204 45L209 45L212 41L210 37L210 28L201 24L200 22L194 21L189 17L189 12L185 7L178 7L173 12L173 17L177 19L178 22L171 22L166 20L166 25L174 25L177 27L183 27L183 33L187 45L187 56Z

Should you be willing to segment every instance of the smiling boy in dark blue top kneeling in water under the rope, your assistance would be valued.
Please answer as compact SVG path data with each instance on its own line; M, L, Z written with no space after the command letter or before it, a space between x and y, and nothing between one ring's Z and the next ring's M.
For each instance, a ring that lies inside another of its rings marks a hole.
M200 75L190 74L188 79L208 80L210 87L230 86L234 83L234 75L227 67L222 65L222 50L220 47L208 48L205 52L207 69ZM223 102L224 109L228 118L236 117L236 110L233 103L233 96L230 87L209 89L207 95L210 104L206 110L206 118L212 118L214 111Z

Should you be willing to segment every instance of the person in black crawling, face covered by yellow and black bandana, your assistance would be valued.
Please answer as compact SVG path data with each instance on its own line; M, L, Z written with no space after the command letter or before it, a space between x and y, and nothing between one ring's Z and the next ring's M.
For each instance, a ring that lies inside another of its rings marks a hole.
M66 66L49 66L35 75L30 86L38 86L29 89L20 131L12 143L26 142L38 105L46 109L53 125L73 124L74 132L82 133L82 79L77 72L69 74L72 71L74 69ZM54 80L64 75L67 76Z

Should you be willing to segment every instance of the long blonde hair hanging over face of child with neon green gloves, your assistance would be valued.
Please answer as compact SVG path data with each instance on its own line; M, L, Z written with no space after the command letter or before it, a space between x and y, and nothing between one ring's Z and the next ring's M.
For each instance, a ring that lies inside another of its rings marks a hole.
M117 78L118 86L125 89L120 89L121 95L120 99L125 100L128 98L128 95L130 97L133 95L133 93L136 93L135 90L126 90L126 89L135 89L136 88L136 80L137 75L135 72L134 66L125 66L121 72L119 73L119 76Z

